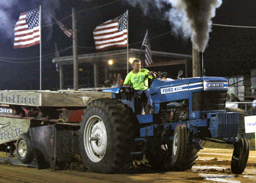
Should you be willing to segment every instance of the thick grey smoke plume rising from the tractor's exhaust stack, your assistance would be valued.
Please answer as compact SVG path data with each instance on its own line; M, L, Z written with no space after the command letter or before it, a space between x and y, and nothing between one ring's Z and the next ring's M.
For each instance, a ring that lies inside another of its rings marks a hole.
M215 16L216 8L220 7L222 0L127 0L132 6L139 5L147 14L149 5L161 10L164 4L172 8L166 13L166 18L173 26L176 34L184 38L191 38L195 48L203 52L209 40L211 19Z

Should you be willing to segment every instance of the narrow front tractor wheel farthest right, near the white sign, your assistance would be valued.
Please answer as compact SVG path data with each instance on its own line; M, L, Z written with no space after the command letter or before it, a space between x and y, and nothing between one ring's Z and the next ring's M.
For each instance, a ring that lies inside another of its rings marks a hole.
M249 142L246 139L239 139L234 144L234 151L231 160L231 172L234 174L242 174L246 167L249 157Z

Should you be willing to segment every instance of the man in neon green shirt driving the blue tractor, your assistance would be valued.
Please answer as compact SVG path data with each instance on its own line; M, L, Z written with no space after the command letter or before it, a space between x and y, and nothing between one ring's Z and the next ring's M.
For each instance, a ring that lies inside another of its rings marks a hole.
M147 74L149 75L149 78L153 78L152 76L156 78L156 74L153 73L153 71L148 71L148 69L141 69L141 60L139 59L135 59L132 62L132 67L133 67L133 70L129 72L128 75L126 76L123 86L132 86L135 89L136 94L139 96L141 96L142 93L146 93L146 96L148 98L147 105L145 106L147 110L146 114L150 114L153 101L150 98L149 89L147 87L148 79L145 80L145 85L147 86L144 85L143 81ZM141 112L142 110L143 110L143 106L141 106Z

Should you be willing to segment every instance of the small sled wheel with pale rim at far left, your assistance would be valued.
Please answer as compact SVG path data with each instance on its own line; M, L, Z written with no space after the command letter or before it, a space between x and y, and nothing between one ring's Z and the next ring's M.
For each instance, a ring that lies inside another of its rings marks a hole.
M16 144L17 156L20 162L24 164L31 163L34 153L30 136L27 133L22 133L18 137Z

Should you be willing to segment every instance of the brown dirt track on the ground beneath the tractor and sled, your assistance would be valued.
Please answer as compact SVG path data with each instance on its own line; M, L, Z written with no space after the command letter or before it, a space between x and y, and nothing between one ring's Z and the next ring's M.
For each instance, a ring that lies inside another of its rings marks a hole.
M184 172L161 172L140 164L133 166L127 174L106 175L80 170L37 170L0 164L0 183L252 183L256 182L256 151L250 151L248 167L242 175L230 173L233 150L200 150L198 160L191 170Z

